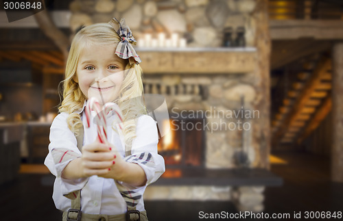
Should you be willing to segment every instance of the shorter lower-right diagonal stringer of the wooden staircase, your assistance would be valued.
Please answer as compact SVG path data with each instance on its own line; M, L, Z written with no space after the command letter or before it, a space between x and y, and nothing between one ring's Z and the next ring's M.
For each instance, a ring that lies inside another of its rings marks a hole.
M316 114L311 118L307 123L307 127L303 130L297 139L298 144L301 144L311 133L314 131L324 118L327 117L327 114L331 111L332 100L331 96L327 96L326 99L322 102L322 105L318 108Z

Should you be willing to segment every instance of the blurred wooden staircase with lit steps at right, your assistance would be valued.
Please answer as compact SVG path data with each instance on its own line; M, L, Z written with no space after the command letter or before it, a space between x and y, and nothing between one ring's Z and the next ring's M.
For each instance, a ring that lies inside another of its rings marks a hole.
M272 118L272 146L300 144L331 110L331 60L318 61L313 73L298 73Z

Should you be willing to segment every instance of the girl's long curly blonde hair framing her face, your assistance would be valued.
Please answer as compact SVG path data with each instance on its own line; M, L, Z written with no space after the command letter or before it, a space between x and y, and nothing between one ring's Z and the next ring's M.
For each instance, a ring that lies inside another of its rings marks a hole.
M73 38L69 51L65 79L63 81L63 101L59 111L69 114L67 125L75 135L82 126L80 114L77 113L84 105L86 97L80 90L76 70L78 59L82 50L87 46L87 42L97 44L118 44L121 39L115 29L108 23L97 23L82 28ZM132 140L136 137L137 118L146 114L145 105L141 99L143 96L142 69L139 64L126 64L124 79L119 91L119 98L114 101L119 105L123 113L123 135L126 146L132 145ZM113 127L114 128L114 127Z

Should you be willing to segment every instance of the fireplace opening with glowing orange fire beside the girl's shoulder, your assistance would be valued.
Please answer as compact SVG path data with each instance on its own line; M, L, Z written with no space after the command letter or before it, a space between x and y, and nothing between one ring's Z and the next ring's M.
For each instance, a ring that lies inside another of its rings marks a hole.
M191 117L190 117L191 116ZM162 127L170 127L169 133L158 142L158 153L169 168L203 167L205 155L205 118L190 114L169 116Z

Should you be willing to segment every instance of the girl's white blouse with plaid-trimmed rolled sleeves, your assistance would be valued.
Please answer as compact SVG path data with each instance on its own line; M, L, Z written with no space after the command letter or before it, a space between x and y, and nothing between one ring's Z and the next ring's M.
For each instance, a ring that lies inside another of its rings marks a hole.
M80 111L82 112L82 111ZM107 214L115 215L126 213L127 206L125 200L119 193L115 181L113 179L106 179L97 177L96 175L84 179L69 180L62 179L62 170L69 164L69 162L76 157L81 157L82 153L78 149L75 135L67 126L68 114L58 114L52 122L50 128L50 144L49 154L45 159L45 166L49 168L50 172L56 176L54 183L53 199L57 209L67 211L71 207L71 200L64 195L67 195L75 190L81 190L81 210L88 214ZM120 130L118 133L111 128L111 122L114 116L108 119L108 142L112 143L121 157L125 156L125 145L123 134ZM86 117L82 119L83 125L86 125ZM145 187L150 183L154 183L165 172L165 161L161 155L157 153L158 133L156 121L150 116L143 115L137 120L136 128L137 137L132 140L132 155L139 155L140 153L150 153L152 164L142 164L139 161L134 161L143 168L147 183L142 187L134 187L135 192L141 194L145 191ZM91 144L97 138L97 127L91 122L91 127L84 127L84 145ZM51 153L56 148L67 148L73 151L75 157L70 157L67 161L57 162L55 164L54 157ZM139 211L143 211L143 197L139 200L137 205Z

